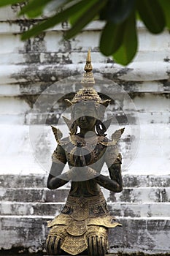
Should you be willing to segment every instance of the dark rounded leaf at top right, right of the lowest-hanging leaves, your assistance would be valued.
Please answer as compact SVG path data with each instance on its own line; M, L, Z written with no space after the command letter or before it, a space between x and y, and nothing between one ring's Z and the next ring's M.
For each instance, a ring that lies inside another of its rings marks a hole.
M137 0L136 7L144 25L151 33L158 34L163 31L165 17L157 0Z

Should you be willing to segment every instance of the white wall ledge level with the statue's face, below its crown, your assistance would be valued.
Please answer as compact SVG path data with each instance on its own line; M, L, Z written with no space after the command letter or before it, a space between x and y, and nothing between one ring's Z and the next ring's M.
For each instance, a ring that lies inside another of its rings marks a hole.
M56 113L57 114L57 113ZM64 115L66 116L66 115ZM167 112L146 112L145 113L140 113L140 112L135 112L131 111L129 112L128 110L125 110L125 114L119 113L117 111L117 114L114 115L116 124L118 122L119 125L121 126L127 126L129 122L134 125L134 127L137 127L140 123L141 125L145 124L161 124L166 128L169 126L169 118L170 118L170 113ZM108 115L108 118L111 116ZM31 118L31 123L30 123L30 118ZM56 121L55 116L53 117L53 113L39 113L39 114L27 114L27 113L11 113L11 114L0 114L0 124L1 125L13 125L14 127L17 126L18 124L20 125L43 125L47 124L50 127L50 124L53 125L58 125L57 123L54 124L54 120ZM125 119L124 119L125 118ZM128 118L128 119L127 119ZM138 119L136 119L138 118ZM57 121L56 121L57 122ZM65 124L64 121L60 118L60 124ZM114 121L112 124L115 124Z

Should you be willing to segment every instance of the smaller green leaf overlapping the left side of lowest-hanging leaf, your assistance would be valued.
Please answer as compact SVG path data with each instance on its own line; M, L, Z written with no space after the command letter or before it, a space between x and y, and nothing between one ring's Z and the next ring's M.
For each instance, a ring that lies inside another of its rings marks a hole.
M123 42L124 23L115 24L108 22L104 27L101 39L100 50L105 56L111 56Z

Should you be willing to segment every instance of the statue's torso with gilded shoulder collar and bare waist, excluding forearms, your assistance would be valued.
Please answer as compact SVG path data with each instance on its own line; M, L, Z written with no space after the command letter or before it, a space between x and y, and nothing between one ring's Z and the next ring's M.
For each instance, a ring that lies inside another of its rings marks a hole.
M96 179L93 178L96 176L82 178L82 175L85 173L84 171L86 171L84 167L90 167L97 172L97 175L100 175L104 162L109 167L117 159L116 142L116 140L110 141L105 136L98 135L90 138L72 135L59 141L58 148L53 153L53 161L61 161L64 164L68 162L71 172L74 169L72 167L79 167L77 172L78 178L71 178L72 186L69 195L74 197L99 195L101 189Z

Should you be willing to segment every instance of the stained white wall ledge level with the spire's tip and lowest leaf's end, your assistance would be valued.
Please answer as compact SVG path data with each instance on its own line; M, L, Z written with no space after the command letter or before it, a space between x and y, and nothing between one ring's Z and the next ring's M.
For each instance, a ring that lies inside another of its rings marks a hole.
M48 40L48 39L47 39ZM20 42L23 45L23 42ZM21 47L20 45L20 47ZM19 46L19 45L18 45ZM5 51L6 50L6 51ZM82 64L85 62L85 56L88 50L88 45L84 45L80 51L79 45L74 45L72 51L62 48L53 48L49 49L39 49L39 51L34 51L33 49L26 52L26 50L16 52L14 48L2 49L0 52L1 65L9 64ZM9 58L10 54L10 58ZM147 49L139 50L136 54L136 57L133 62L145 62L147 63L152 59L152 62L163 61L169 63L169 54L170 50L168 48L163 49ZM113 64L112 56L104 56L100 53L95 46L91 47L91 56L94 63L100 64Z

